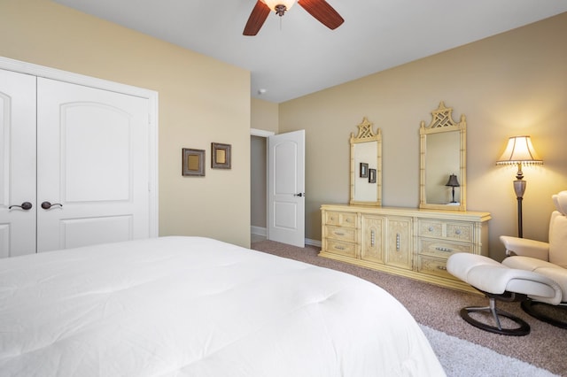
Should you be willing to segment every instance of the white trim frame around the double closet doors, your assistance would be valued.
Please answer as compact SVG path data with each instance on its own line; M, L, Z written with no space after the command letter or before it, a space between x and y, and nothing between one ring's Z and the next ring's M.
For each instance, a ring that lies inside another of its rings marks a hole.
M11 58L0 57L0 69L17 73L27 73L47 79L66 81L90 88L98 88L113 92L122 93L128 96L139 96L146 98L150 105L148 114L148 124L150 128L149 148L149 182L148 195L150 201L150 237L159 235L159 185L158 185L158 92L146 88L138 88L119 82L106 81L94 77L85 76L78 73L71 73L43 65L22 62Z

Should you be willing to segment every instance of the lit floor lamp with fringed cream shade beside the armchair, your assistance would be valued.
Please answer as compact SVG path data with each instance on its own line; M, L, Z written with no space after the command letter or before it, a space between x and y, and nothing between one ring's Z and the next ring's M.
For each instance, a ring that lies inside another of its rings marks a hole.
M522 200L524 199L525 184L522 164L541 165L543 160L538 158L533 150L530 136L510 137L508 145L501 158L496 161L496 165L517 165L516 181L514 181L514 191L517 197L517 236L522 238Z

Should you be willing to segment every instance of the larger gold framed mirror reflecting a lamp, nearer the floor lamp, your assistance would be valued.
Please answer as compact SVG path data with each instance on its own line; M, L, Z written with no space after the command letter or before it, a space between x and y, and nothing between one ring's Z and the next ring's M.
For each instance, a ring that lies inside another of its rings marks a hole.
M441 101L431 112L431 123L422 120L420 135L419 208L466 211L467 122L453 119L453 108Z

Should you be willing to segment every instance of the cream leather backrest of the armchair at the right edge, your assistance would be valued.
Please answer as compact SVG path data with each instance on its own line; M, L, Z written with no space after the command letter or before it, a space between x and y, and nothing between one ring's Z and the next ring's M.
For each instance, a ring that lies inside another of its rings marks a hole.
M567 268L567 191L553 196L557 211L549 220L549 262Z

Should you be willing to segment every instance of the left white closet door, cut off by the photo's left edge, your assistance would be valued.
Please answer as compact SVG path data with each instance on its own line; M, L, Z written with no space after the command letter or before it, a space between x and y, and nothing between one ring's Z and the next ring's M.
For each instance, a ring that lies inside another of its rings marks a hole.
M35 76L0 70L0 258L35 253L35 208Z

